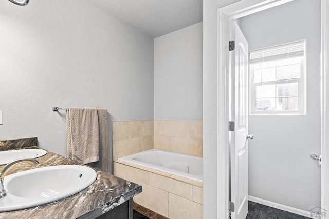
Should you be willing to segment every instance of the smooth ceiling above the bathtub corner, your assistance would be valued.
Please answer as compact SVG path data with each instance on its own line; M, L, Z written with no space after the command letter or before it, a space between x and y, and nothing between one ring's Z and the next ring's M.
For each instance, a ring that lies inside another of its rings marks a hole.
M91 0L152 38L203 21L203 0Z

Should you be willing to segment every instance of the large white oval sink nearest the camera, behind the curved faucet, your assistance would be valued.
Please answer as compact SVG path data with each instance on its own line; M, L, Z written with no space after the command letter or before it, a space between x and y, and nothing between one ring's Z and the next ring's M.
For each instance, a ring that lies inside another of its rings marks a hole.
M61 200L92 185L96 178L94 169L80 165L41 167L7 175L7 196L0 198L0 212Z

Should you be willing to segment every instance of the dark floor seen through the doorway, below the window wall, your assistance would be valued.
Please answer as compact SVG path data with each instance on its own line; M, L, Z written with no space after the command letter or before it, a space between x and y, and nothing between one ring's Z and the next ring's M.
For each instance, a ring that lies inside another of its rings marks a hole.
M268 207L249 201L249 211L246 219L307 219L308 217L300 216L276 208Z

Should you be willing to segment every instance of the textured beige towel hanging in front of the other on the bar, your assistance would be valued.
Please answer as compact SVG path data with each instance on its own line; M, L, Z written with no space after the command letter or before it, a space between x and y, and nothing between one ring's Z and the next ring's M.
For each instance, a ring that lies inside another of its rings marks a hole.
M99 125L96 108L67 108L67 157L82 164L99 160Z

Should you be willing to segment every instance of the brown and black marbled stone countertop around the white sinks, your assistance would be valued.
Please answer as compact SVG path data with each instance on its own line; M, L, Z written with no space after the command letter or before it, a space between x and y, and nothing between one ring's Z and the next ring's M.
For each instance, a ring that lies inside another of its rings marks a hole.
M25 148L38 147L33 146ZM38 166L21 163L13 166L8 174L45 166L68 164L82 165L50 151L48 151L46 155L36 158L36 160L40 162ZM0 170L4 166L5 165L0 165ZM130 200L133 196L142 191L140 185L100 170L96 171L97 180L75 195L38 207L2 212L0 213L0 218L89 218L84 215L90 215L90 212L92 212L93 216L99 216L112 210L123 202Z

